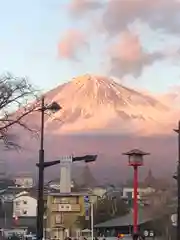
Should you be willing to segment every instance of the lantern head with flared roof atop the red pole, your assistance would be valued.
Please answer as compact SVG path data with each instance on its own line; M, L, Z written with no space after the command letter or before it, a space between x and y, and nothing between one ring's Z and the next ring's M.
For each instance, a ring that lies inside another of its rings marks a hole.
M139 149L132 149L129 152L123 153L123 155L129 157L129 166L140 167L143 165L143 156L150 154Z

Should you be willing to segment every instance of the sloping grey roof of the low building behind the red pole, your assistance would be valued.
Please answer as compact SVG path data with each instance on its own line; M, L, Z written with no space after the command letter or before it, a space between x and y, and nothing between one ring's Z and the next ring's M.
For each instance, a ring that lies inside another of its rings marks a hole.
M139 209L139 215L138 215L138 225L141 225L143 223L149 222L152 219L155 218L155 216L152 216L149 211L146 211L143 208ZM159 216L157 216L159 217ZM120 226L132 226L133 225L133 212L130 211L127 215L122 217L113 218L111 220L108 220L103 223L99 223L95 225L95 228L111 228L111 227L120 227Z

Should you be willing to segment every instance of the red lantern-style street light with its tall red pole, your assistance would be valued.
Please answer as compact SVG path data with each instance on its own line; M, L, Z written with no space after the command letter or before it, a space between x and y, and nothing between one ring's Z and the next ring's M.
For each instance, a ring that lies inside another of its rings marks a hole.
M149 153L143 152L139 149L133 149L129 152L123 153L129 157L129 166L134 169L134 201L133 201L133 234L138 233L138 167L143 166L143 156Z

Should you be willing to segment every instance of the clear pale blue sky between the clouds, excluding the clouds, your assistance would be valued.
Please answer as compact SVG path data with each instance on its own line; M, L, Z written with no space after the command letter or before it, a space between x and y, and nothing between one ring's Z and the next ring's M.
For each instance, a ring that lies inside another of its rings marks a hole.
M84 73L107 74L102 57L103 38L90 38L90 48L81 53L82 61L60 59L58 42L63 33L72 28L86 29L86 21L70 18L68 0L6 0L0 1L0 73L9 71L16 76L27 76L42 90L48 90L72 77ZM146 27L142 40L148 49L171 47L178 38L155 33ZM86 29L87 30L87 29ZM156 62L144 68L142 75L129 78L127 84L150 91L167 91L180 85L178 59Z

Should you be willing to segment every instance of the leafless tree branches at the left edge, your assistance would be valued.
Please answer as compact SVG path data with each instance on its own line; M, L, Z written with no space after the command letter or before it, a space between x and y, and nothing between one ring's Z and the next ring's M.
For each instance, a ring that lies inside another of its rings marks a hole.
M37 93L26 78L10 74L0 76L0 140L6 147L19 147L11 131L15 125L30 132L35 131L25 119L39 106Z

